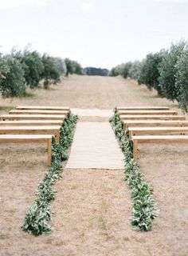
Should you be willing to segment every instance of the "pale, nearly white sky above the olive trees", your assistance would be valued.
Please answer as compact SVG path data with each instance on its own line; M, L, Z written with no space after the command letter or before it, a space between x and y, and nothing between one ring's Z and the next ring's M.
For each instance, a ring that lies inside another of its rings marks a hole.
M0 52L111 69L188 41L188 0L0 0Z

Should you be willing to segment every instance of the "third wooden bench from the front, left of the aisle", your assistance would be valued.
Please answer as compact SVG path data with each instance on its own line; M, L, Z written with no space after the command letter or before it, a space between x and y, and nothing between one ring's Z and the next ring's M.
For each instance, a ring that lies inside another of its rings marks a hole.
M62 126L63 120L0 121L0 126Z

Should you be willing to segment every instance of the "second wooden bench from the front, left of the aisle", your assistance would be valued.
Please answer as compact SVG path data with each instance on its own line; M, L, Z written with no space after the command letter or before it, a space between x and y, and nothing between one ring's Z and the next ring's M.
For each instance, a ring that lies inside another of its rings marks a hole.
M53 134L60 141L61 126L0 126L0 134Z

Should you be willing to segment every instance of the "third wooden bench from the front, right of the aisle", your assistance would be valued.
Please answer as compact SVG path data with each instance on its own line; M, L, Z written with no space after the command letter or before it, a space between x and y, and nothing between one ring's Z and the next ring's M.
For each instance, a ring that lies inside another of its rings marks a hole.
M132 126L188 126L188 121L176 120L123 120L124 128Z

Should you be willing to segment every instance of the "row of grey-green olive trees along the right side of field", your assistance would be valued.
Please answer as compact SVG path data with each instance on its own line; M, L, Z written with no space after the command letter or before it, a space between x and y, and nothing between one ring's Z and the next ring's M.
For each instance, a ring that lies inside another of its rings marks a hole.
M147 54L142 62L127 62L112 68L111 76L121 75L145 84L149 90L172 101L188 112L188 43L172 44L170 49Z

